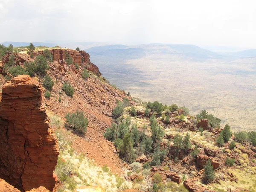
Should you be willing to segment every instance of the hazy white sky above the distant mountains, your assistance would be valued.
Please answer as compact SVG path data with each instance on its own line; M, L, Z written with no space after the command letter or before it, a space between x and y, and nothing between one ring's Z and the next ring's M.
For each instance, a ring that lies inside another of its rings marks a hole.
M255 0L0 0L0 42L256 48Z

